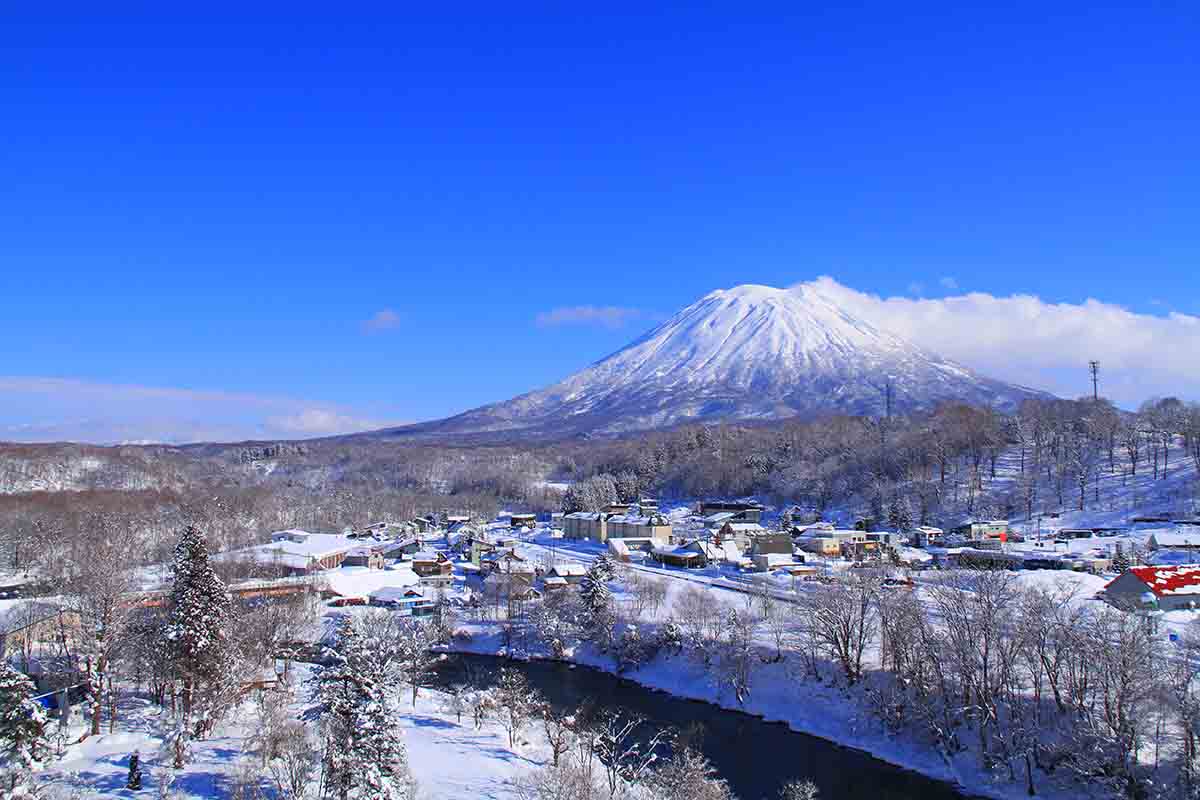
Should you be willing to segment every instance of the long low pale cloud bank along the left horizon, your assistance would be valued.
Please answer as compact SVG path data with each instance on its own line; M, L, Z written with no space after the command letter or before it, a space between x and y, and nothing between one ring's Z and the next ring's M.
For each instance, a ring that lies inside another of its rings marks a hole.
M400 425L331 404L221 391L0 375L0 440L235 441Z

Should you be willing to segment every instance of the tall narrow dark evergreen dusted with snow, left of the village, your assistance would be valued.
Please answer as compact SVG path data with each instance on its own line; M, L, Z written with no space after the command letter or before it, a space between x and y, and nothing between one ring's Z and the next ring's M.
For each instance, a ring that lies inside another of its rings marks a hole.
M221 676L226 660L229 593L209 564L204 535L192 525L175 546L166 637L184 681L184 714L197 686Z

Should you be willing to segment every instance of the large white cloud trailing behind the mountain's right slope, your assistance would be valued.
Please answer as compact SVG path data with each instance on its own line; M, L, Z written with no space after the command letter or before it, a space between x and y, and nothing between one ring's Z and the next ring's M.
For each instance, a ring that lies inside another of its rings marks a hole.
M1087 362L1096 359L1100 390L1118 404L1136 405L1154 395L1200 397L1200 317L980 291L881 297L828 276L808 285L852 314L992 378L1076 397L1090 391Z

